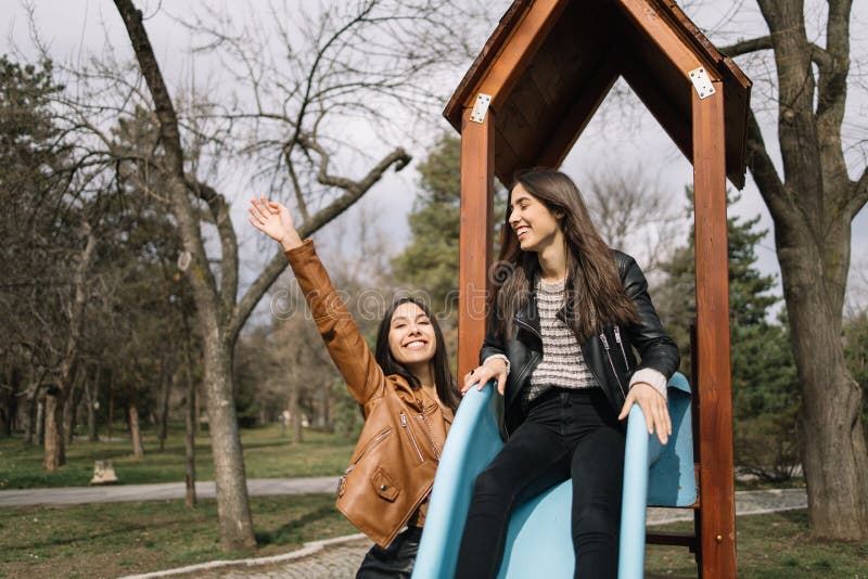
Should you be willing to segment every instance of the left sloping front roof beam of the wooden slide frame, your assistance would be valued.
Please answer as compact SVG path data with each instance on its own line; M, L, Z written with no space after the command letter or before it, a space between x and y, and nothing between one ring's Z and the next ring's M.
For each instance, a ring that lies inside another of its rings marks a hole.
M464 108L473 106L476 94L484 92L492 95L490 106L499 111L569 3L569 0L537 0L531 5L488 66L478 88L468 95Z

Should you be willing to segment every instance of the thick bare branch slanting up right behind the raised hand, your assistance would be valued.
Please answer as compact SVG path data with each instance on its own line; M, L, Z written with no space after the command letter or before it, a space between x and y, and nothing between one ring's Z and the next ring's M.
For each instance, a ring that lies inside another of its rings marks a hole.
M317 214L311 218L305 219L305 221L298 227L298 235L302 239L309 237L311 234L314 234L314 232L318 231L320 228L329 223L332 219L340 216L354 203L356 203L380 179L383 178L383 175L385 175L386 170L388 170L391 166L394 165L395 170L399 171L406 167L410 160L410 155L408 155L404 149L398 147L383 157L383 159L373 168L371 168L371 170L368 171L368 173L359 181L353 181L350 179L332 176L327 176L327 182L320 180L320 182L323 184L341 183L334 184L334 186L344 189L346 192L334 200L328 207L323 207L317 211ZM322 175L323 171L321 170L320 173ZM250 318L253 308L259 303L265 293L269 287L271 287L271 284L275 283L275 280L278 279L280 273L285 268L286 257L283 255L283 252L279 252L269 260L263 272L258 278L256 278L256 281L253 282L250 290L247 290L247 293L244 294L244 297L242 297L238 303L238 306L235 306L234 312L227 327L227 336L233 336L241 331L244 322L246 322L247 318Z

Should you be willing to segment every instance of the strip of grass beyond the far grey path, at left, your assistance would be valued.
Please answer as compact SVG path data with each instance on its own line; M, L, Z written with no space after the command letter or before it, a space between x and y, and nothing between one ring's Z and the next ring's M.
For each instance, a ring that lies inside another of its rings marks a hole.
M310 429L304 436L304 442L292 445L277 425L242 430L247 478L329 476L343 472L353 453L354 440ZM111 460L122 485L184 479L182 430L170 432L163 451L158 450L155 434L145 432L144 450L144 458L136 459L128 439L76 440L66 449L66 465L46 473L40 447L27 446L21 437L0 438L0 489L87 486L97 460ZM214 479L207 432L196 438L196 479Z

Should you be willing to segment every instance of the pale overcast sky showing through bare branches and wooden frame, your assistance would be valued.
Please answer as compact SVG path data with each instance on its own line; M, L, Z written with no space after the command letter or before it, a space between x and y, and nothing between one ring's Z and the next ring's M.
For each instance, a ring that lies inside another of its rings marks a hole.
M317 2L305 1L310 9ZM33 2L37 28L42 40L48 44L53 59L62 62L84 62L91 55L103 54L108 47L117 49L119 59L130 59L126 31L110 0L37 0ZM180 87L189 85L191 78L206 79L220 75L220 64L214 57L191 54L191 39L170 15L186 15L193 8L203 5L200 1L187 0L148 0L137 2L143 7L144 13L150 16L145 23L151 42L155 48L157 59L161 61L164 75L170 86ZM499 0L489 2L495 4L492 9L490 22L478 23L478 35L475 42L481 49L488 34L494 29L508 2ZM822 30L816 26L822 22L824 10L821 3L808 4L807 25L810 34L818 42L822 41ZM814 8L814 5L819 8ZM212 1L206 3L210 10L227 14L229 18L243 18L246 8L245 2ZM263 5L265 0L253 0L254 9ZM28 30L26 10L18 0L0 0L0 51L13 52L20 50L26 57L36 54ZM688 15L703 29L709 31L712 41L723 46L740 37L761 35L765 31L756 8L750 0L715 0L693 2L684 7ZM852 76L858 73L868 73L868 2L854 2L854 16L851 24L853 31ZM813 28L812 28L813 27ZM768 59L765 61L739 61L749 76L755 82L753 90L753 104L767 101L769 86L762 78L763 73L769 68ZM444 79L447 87L457 86L461 76L470 65L470 61L462 68L454 70L451 78ZM628 91L628 89L625 89ZM851 85L847 117L845 124L845 141L850 145L851 177L861 171L865 166L866 146L868 140L868 99L864 88ZM621 107L624 101L610 98L598 112L590 126L586 129L573 152L564 163L563 169L572 175L582 186L587 181L591 171L618 171L626 168L641 166L648 168L652 180L672 195L672 203L684 206L684 186L692 181L692 168L668 139L656 121L647 113L633 95L628 101L634 103L630 114L623 114ZM437 130L446 130L447 125L439 119L442 106L432 111L432 120L424 125L422 133L419 130L410 141L411 153L418 160L424 156L425 145L436 136ZM774 117L764 119L766 142L775 143ZM863 141L859 144L859 141ZM776 152L773 152L777 156ZM777 160L777 159L776 159ZM653 169L651 169L653 168ZM659 169L658 169L659 168ZM239 177L226 191L230 200L237 200L233 215L235 229L244 241L246 253L245 265L248 271L256 269L256 262L264 257L260 240L256 237L243 221L243 200L248 197L248 183L246 177ZM405 169L401 173L390 173L376 188L361 202L361 207L350 209L337 222L327 229L353 230L360 219L372 219L385 235L396 240L393 247L400 247L408 239L406 214L413 201L413 186L417 175L413 167ZM762 227L771 229L771 221L765 205L748 172L748 185L741 201L731 208L732 211L745 217L761 215ZM321 242L328 245L333 233L321 232ZM254 240L254 241L251 241ZM629 249L629 248L628 248ZM868 211L865 209L856 218L853 227L853 267L868 272ZM774 253L771 234L758 248L760 263L763 270L778 273L777 260ZM863 296L863 299L868 296Z

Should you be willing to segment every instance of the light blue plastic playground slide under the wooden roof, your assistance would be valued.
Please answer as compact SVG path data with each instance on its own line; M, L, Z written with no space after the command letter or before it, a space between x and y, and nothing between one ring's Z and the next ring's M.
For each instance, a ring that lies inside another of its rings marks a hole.
M473 481L503 442L497 420L494 383L464 396L437 467L413 578L455 575ZM673 435L662 446L649 437L638 406L630 410L624 464L618 577L640 579L644 565L644 517L648 504L687 506L697 500L690 387L681 374L669 381ZM512 514L499 578L573 577L570 536L572 483L565 481L520 505Z

